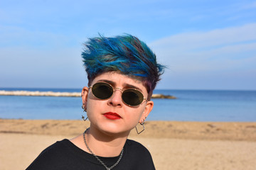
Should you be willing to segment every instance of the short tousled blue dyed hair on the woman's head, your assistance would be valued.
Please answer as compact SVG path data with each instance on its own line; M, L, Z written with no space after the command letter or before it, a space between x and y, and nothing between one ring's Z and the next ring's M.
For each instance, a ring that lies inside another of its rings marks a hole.
M82 61L87 72L88 84L105 72L120 72L143 82L149 98L164 72L156 62L156 55L146 43L132 35L106 38L100 35L85 42Z

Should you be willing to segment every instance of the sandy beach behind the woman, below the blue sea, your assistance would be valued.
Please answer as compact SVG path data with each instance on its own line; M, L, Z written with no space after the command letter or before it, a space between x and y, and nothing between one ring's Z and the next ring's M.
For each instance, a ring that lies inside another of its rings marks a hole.
M0 169L26 169L58 140L82 133L82 120L0 119ZM130 139L149 149L156 169L256 169L256 123L147 121Z

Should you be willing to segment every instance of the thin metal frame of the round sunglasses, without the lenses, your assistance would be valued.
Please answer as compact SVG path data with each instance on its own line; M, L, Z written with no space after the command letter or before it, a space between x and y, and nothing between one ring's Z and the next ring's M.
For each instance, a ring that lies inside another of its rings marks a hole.
M101 84L107 84L108 86L110 86L110 87L112 88L112 95L111 95L109 98L111 98L111 97L113 96L113 94L114 94L114 91L117 91L117 90L121 91L121 98L122 98L122 94L123 94L123 92L124 92L124 91L127 91L127 90L134 90L134 91L138 91L140 94L142 94L142 92L141 92L141 91L139 91L138 89L130 88L130 89L125 89L125 90L123 90L123 89L120 89L120 88L114 88L111 84L108 84L108 83L103 82L103 81L97 82L97 83L95 83L95 84L99 84L99 83L101 83ZM93 84L92 86L90 86L90 87L89 87L89 89L92 89L92 87L93 87L95 84ZM93 91L92 91L92 94L93 94ZM93 96L95 96L95 94L93 94ZM123 102L124 104L126 104L127 106L131 106L131 107L139 106L140 104L142 104L142 103L143 103L143 101L144 101L144 100L149 101L148 99L144 98L144 95L143 95L143 94L142 94L142 96L143 96L143 100L142 100L142 102L141 102L141 103L139 103L138 105L129 105L128 103L126 103L126 102L124 101L124 99L123 99L123 98L122 98L122 102ZM95 96L95 98L98 98L98 97L97 97L97 96ZM100 100L107 100L107 99L109 99L109 98L104 98L104 99L102 99L102 98L98 98L98 99L100 99Z

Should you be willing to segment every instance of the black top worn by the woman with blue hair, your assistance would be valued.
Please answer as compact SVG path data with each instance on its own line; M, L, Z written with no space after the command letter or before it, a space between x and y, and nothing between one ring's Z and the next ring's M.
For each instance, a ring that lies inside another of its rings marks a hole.
M118 157L99 157L107 167L112 166L119 159ZM55 144L46 148L32 162L26 170L105 170L105 167L98 160L79 147L75 146L69 140L55 142ZM154 163L149 151L138 142L127 140L124 145L122 159L113 170L117 169L155 169Z

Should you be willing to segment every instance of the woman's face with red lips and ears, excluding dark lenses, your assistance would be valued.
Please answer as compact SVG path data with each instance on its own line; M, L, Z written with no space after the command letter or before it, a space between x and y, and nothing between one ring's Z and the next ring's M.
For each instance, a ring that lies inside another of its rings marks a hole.
M118 72L106 72L97 76L91 85L97 82L110 84L114 88L114 93L110 98L101 100L92 94L92 88L84 87L82 90L82 103L87 109L91 128L112 134L129 133L137 123L142 123L153 108L153 101L144 100L138 106L128 106L122 101L122 91L131 88L141 91L144 98L147 98L148 94L142 81Z

